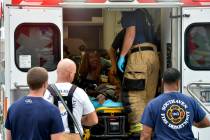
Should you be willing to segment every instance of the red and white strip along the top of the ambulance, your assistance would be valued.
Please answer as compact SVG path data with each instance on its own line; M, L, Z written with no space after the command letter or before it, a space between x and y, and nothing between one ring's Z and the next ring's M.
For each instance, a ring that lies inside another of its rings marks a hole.
M210 0L12 0L12 5L63 6L68 8L162 8L210 6Z

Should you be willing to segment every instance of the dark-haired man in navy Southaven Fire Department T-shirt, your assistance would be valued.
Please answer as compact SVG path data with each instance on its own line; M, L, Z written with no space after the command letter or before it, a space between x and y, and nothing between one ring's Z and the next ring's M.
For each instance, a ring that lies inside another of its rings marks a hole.
M179 92L180 76L174 68L164 72L164 94L150 101L145 108L141 119L141 140L192 140L192 125L198 128L210 126L198 103Z

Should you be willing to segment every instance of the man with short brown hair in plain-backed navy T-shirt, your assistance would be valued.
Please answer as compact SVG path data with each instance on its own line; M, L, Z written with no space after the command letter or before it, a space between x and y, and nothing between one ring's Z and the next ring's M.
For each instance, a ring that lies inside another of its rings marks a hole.
M27 83L28 96L17 100L8 110L7 140L61 140L64 128L59 110L42 98L48 86L47 71L41 67L30 69Z

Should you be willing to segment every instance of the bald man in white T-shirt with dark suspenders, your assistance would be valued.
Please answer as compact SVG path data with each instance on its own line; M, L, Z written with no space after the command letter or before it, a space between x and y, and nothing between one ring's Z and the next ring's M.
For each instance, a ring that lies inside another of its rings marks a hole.
M80 130L83 132L82 125L95 125L98 123L98 117L85 91L71 84L74 80L75 73L76 64L72 60L67 58L61 60L57 65L57 81L55 86L63 96L67 106L76 118ZM54 96L54 92L52 88L48 88L44 98L59 107L65 128L62 140L79 140L78 130L63 104Z

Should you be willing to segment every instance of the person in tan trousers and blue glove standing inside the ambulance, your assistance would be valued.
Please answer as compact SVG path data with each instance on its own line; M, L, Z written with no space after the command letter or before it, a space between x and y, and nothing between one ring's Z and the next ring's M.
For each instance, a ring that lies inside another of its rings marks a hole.
M124 72L125 69L123 82L125 81L126 69L138 68L135 67L138 65L142 68L142 71L146 70L143 73L139 73L142 77L145 77L143 80L146 81L144 83L145 85L142 84L144 86L139 87L141 90L131 91L128 89L128 92L122 93L124 106L130 108L128 115L130 132L136 134L142 129L139 119L141 118L144 108L148 101L153 99L156 94L159 58L157 48L153 44L154 31L152 29L152 19L148 11L145 9L137 9L135 11L122 12L121 24L123 29L125 29L125 36L117 66L121 72ZM128 58L125 67L126 56ZM131 56L135 58L133 59ZM135 71L135 69L133 71ZM136 81L138 81L138 79L136 79ZM137 84L133 85L136 86ZM123 85L123 87L125 86Z

